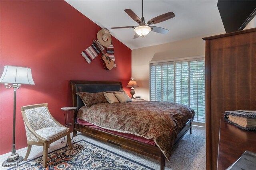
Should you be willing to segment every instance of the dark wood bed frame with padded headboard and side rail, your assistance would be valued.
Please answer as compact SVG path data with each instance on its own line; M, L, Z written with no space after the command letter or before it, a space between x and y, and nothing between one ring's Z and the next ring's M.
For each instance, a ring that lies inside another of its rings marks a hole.
M84 106L84 104L81 98L78 95L76 95L76 92L95 93L95 92L122 90L122 83L121 82L71 80L71 88L72 88L73 106L78 107L78 109L80 109L80 107ZM74 113L74 119L73 119L73 135L74 136L76 136L77 132L81 132L90 137L94 137L96 139L100 139L102 141L112 143L114 145L118 145L119 147L126 148L134 152L143 154L145 156L160 160L160 170L164 170L165 156L157 146L148 145L145 143L141 143L139 141L114 135L112 133L87 127L85 125L80 125L77 123L76 117L77 117L77 112ZM180 141L180 139L182 139L182 137L188 132L188 130L190 130L190 134L191 134L192 133L191 120L188 120L187 123L184 125L184 127L180 130L180 133L178 133L178 136L174 141L174 145L176 145Z

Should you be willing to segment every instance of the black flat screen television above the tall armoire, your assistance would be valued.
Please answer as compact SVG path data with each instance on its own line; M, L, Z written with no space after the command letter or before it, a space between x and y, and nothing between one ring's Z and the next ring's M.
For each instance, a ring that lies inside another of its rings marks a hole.
M226 33L243 30L256 15L256 0L218 0Z

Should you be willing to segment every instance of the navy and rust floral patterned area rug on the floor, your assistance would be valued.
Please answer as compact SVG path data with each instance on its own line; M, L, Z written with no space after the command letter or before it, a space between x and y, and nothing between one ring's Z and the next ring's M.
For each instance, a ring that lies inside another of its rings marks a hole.
M84 140L72 146L73 150L64 147L48 153L47 168L43 168L43 158L40 156L23 163L15 170L153 170Z

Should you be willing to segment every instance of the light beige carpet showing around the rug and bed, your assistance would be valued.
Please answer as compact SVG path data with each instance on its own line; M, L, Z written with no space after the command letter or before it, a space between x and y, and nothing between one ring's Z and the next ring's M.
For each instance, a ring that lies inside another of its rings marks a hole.
M183 137L183 139L174 147L172 150L171 162L166 160L165 170L205 170L206 169L206 151L205 151L205 128L204 127L192 127L192 134L189 132ZM74 140L84 139L88 142L94 143L100 147L104 147L105 149L111 150L117 154L135 160L136 162L140 162L154 168L156 170L160 169L160 162L158 160L154 160L152 158L143 156L136 152L132 152L126 149L122 149L116 145L112 145L110 143L105 143L99 141L97 139L93 139L90 137L86 137L81 133L78 133ZM61 140L58 140L51 144L48 152L64 147L65 144L60 143ZM32 146L30 156L28 159L36 158L42 155L42 147ZM20 156L25 156L26 148L17 150ZM7 158L9 154L4 154L0 156L0 163ZM0 168L1 170L5 170L7 168Z

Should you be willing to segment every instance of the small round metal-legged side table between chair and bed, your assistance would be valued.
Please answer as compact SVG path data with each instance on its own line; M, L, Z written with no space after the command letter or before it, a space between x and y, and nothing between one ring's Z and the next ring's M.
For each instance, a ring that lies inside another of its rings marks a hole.
M60 108L62 111L63 111L63 113L64 113L64 118L65 118L65 126L66 127L68 127L69 129L70 129L70 131L71 131L71 133L72 133L72 141L73 141L73 143L74 142L76 142L76 141L74 141L74 139L73 139L73 132L72 132L72 122L73 122L73 117L74 116L72 116L72 111L74 112L75 110L77 110L77 107L62 107L62 108ZM64 140L63 141L61 141L61 143L64 143L64 141L65 141L65 137L66 136L64 136ZM67 142L66 142L66 146L68 145L68 140L67 140Z

